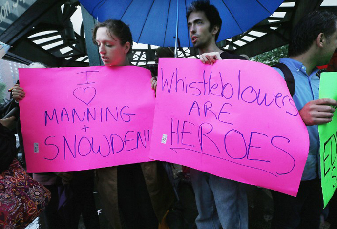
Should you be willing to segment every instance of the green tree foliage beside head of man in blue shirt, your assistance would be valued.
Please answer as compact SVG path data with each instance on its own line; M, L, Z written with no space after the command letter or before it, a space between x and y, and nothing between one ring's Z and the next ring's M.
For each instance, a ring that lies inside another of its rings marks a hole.
M277 64L279 62L280 58L287 57L287 54L288 45L283 45L271 51L256 55L255 57L252 57L252 60L267 64L269 66L273 66L274 64Z

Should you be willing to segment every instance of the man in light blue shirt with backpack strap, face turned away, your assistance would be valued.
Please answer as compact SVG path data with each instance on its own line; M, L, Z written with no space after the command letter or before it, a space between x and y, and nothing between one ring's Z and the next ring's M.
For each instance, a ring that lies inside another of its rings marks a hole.
M337 102L318 99L321 66L329 63L337 49L337 17L327 11L312 12L295 26L289 44L289 58L280 59L295 79L296 108L309 132L309 152L296 197L272 191L273 229L319 229L323 197L320 184L319 136L317 124L332 120ZM284 77L281 70L275 68ZM293 131L296 131L294 129Z

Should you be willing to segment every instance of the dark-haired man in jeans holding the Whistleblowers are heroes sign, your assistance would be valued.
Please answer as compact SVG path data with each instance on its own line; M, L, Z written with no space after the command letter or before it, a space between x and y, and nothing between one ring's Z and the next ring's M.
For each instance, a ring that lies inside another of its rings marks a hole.
M208 0L194 1L187 11L188 29L193 46L204 64L219 59L243 59L216 46L222 20ZM242 183L191 169L191 181L199 215L198 229L248 229L248 205Z

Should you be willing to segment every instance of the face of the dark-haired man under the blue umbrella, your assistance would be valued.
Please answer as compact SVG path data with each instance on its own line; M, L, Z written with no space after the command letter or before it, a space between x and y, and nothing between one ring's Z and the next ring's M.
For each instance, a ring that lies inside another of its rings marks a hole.
M205 48L211 42L214 42L214 36L217 32L213 28L210 32L210 21L202 11L192 12L187 19L187 26L190 32L190 38L195 48Z

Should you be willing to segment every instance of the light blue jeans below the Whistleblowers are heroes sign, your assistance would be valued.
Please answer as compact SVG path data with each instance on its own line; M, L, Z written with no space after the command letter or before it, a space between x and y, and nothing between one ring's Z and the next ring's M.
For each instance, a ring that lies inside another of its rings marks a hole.
M199 215L198 229L248 229L248 204L244 184L191 169Z

